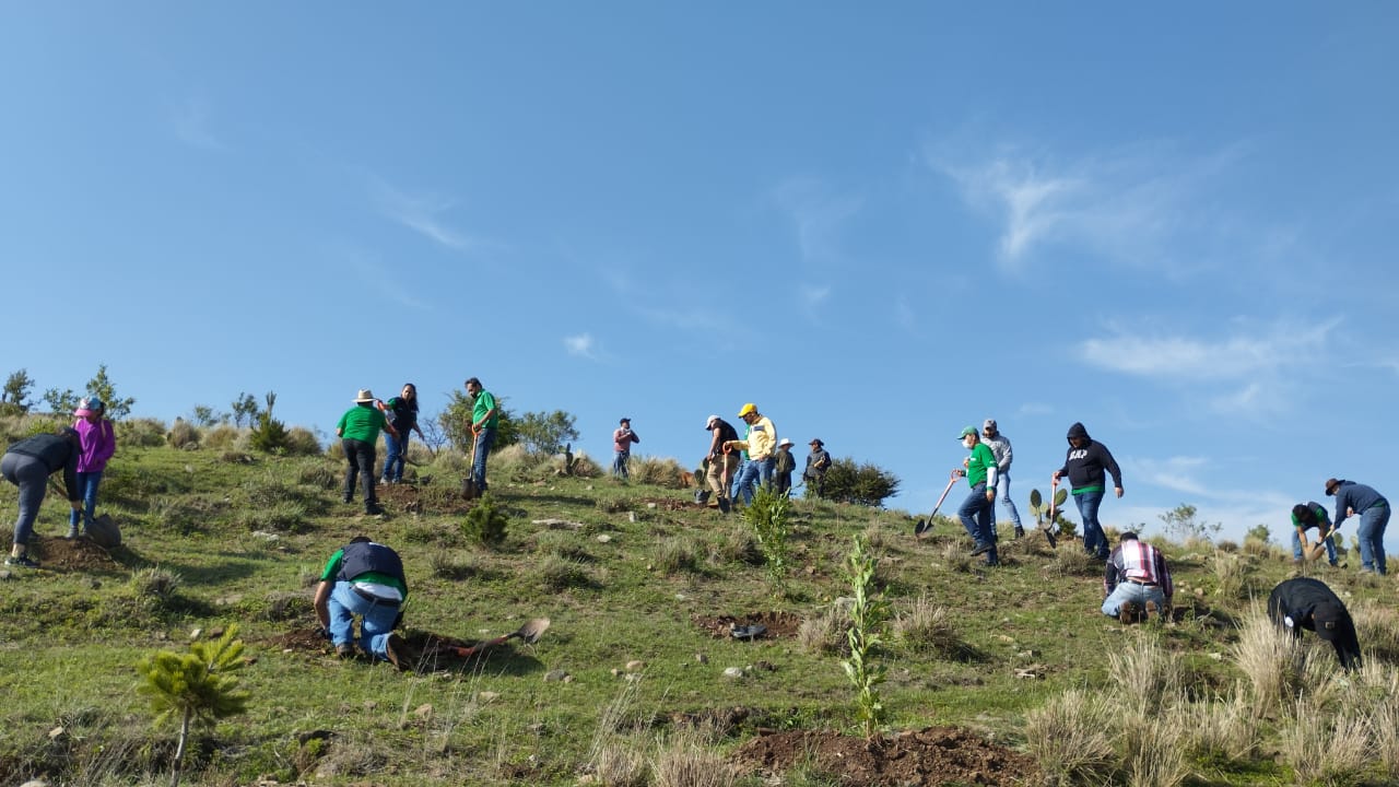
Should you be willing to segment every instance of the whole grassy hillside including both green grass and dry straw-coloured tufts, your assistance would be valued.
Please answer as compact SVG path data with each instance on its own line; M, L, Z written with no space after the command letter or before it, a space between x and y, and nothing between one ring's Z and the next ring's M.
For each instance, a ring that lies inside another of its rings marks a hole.
M1031 763L982 783L1379 784L1399 773L1395 745L1379 742L1399 718L1395 585L1360 576L1354 556L1350 570L1307 569L1360 623L1367 668L1346 676L1328 647L1295 648L1256 623L1251 599L1298 570L1276 546L1164 545L1177 620L1122 626L1098 612L1101 566L1076 541L1003 541L1003 566L986 570L950 520L915 541L905 513L797 500L778 590L753 529L694 506L691 490L502 457L490 475L508 531L485 548L462 531L464 461L414 459L418 483L381 487L388 514L365 517L340 503L330 455L126 444L102 486L99 510L125 535L109 555L59 539L66 504L50 496L34 546L45 569L0 581L0 781L165 783L173 728L152 725L133 664L236 625L249 707L200 731L185 783L837 784L816 752L771 777L753 746L774 731L856 732L838 602L852 595L856 534L873 545L891 612L876 651L886 728L958 727ZM7 529L11 485L0 511ZM404 559L406 633L422 655L413 672L337 661L312 632L312 585L357 534ZM534 646L422 653L537 616L553 625ZM748 623L767 634L729 636ZM1323 732L1319 752L1304 727ZM1342 738L1364 744L1354 762L1328 749ZM1161 751L1181 763L1151 759Z

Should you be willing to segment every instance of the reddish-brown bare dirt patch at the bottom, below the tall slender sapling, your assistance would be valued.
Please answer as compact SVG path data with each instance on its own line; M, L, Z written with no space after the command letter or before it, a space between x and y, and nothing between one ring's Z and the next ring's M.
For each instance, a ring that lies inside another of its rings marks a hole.
M928 727L873 742L839 732L795 730L762 735L733 753L746 773L764 777L796 766L846 786L1035 784L1039 772L1018 752L956 727Z

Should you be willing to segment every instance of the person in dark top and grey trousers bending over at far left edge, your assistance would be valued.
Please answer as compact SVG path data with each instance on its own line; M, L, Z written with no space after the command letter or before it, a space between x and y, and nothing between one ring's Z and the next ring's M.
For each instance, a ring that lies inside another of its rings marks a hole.
M63 489L69 494L69 507L83 510L78 496L78 455L83 441L71 427L63 427L57 434L35 434L10 445L0 459L0 475L20 487L20 518L14 522L14 541L6 566L38 569L39 563L29 557L29 536L34 535L34 521L39 517L39 506L48 493L49 476L63 471Z

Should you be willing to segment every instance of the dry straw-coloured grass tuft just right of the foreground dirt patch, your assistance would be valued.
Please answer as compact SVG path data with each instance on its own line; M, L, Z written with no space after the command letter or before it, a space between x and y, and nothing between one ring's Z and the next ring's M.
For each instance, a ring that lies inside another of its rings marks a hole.
M1025 716L1025 742L1039 770L1062 784L1102 784L1116 755L1111 700L1070 689Z

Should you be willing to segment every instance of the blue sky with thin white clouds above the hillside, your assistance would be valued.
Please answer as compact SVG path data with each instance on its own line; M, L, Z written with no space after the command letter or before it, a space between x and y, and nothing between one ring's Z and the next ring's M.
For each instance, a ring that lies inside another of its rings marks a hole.
M1396 39L1386 3L11 3L0 374L323 433L477 375L687 465L755 402L911 510L964 424L1024 508L1083 422L1107 524L1283 535L1328 476L1399 497Z

